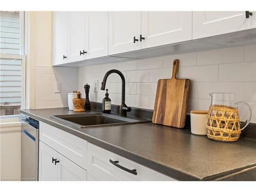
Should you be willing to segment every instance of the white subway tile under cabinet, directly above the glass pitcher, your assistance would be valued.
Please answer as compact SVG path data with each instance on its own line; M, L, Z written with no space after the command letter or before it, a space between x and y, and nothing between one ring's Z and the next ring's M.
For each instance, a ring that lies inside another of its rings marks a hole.
M244 47L231 47L201 51L197 53L197 65L214 65L220 63L243 62Z

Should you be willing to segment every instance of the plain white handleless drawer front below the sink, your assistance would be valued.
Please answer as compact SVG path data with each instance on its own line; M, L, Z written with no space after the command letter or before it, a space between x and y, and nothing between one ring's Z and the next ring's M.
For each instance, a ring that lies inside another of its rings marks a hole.
M67 157L80 167L86 169L87 141L52 125L39 123L39 140L52 147L59 154Z

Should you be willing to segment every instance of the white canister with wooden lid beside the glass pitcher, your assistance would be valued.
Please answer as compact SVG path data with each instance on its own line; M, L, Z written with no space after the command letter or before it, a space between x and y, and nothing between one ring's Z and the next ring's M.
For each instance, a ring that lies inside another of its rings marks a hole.
M208 111L197 110L190 112L191 133L206 135L207 115Z

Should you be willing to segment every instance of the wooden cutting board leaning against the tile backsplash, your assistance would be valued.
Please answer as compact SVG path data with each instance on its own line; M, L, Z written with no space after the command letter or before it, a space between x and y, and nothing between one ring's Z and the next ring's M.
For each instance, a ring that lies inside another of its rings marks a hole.
M179 60L173 63L173 76L170 79L159 79L153 123L183 128L185 126L189 79L177 79Z

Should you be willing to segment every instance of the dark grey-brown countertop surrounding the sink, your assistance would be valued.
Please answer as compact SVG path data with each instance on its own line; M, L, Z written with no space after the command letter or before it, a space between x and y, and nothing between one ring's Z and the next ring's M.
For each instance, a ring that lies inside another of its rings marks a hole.
M79 128L50 118L77 114L68 108L21 110L21 113L177 180L215 180L256 167L253 139L224 143L191 135L189 129L151 122Z

